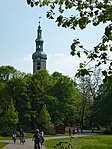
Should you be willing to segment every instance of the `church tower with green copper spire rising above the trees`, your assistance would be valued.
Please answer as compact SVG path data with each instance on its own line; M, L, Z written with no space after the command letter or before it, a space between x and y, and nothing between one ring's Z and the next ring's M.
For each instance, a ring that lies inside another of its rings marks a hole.
M39 69L46 69L47 55L45 54L45 52L43 52L44 41L42 40L42 30L40 26L40 21L37 30L37 39L35 40L35 42L36 42L36 52L32 54L33 73Z

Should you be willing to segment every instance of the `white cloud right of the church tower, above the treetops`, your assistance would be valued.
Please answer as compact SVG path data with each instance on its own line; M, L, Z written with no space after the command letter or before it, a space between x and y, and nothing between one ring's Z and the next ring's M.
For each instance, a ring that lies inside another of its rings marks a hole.
M79 67L79 61L76 57L65 55L63 53L56 53L48 55L47 69L49 73L58 71L70 77L74 76Z

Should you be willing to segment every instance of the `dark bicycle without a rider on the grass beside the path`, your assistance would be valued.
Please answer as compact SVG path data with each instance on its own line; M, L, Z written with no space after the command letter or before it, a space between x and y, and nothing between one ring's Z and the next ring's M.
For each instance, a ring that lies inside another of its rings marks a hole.
M64 144L67 144L66 147L64 147ZM59 148L58 148L59 146ZM72 149L72 144L71 142L59 142L54 146L54 149Z

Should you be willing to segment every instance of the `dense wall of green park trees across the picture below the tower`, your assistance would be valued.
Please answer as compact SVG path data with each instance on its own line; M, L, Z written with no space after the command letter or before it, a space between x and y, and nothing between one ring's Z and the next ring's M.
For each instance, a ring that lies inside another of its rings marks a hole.
M43 127L53 134L58 123L111 129L112 78L100 85L101 70L89 71L94 74L82 77L78 86L68 76L59 72L50 75L46 70L1 80L0 133L11 131L17 124L26 130Z

